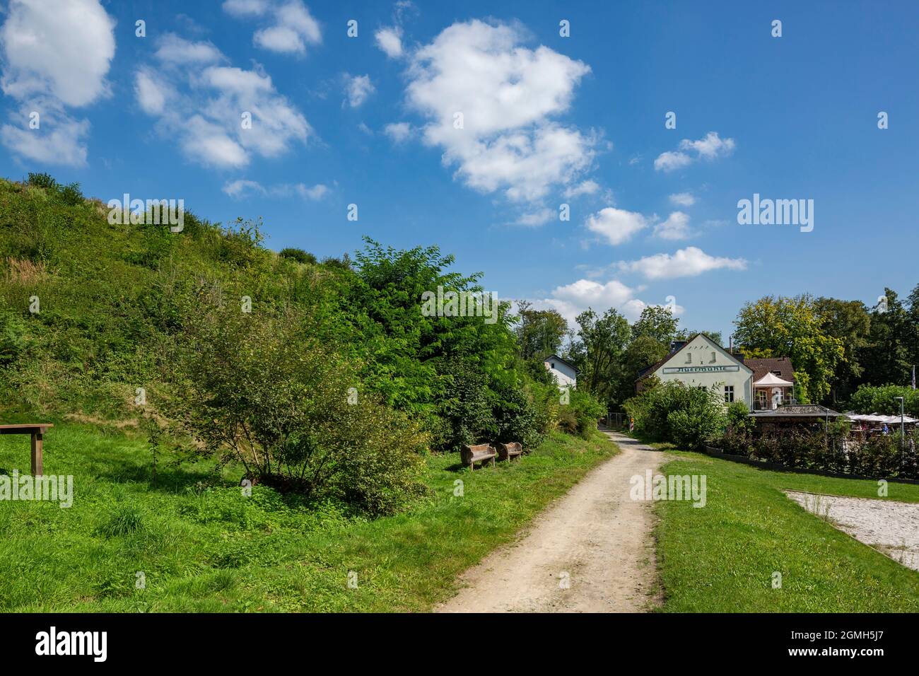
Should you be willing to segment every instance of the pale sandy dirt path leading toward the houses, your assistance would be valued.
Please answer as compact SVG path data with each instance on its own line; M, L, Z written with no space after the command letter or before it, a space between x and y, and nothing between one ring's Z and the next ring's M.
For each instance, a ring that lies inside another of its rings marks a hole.
M437 612L623 613L657 601L651 503L630 499L629 480L656 470L663 453L607 435L622 453L584 476L515 544L463 573L467 586Z

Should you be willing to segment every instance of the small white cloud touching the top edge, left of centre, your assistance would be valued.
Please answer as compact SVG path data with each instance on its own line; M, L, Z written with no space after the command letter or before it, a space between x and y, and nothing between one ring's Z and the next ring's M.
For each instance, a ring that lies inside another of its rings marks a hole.
M223 11L232 17L257 17L262 27L255 31L253 42L270 52L302 55L307 46L322 44L319 22L301 0L267 2L267 0L226 0Z

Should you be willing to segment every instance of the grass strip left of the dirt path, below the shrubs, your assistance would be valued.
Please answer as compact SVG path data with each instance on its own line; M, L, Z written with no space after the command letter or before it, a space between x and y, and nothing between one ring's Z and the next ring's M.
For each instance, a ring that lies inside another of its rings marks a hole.
M614 453L599 433L555 433L520 462L474 473L435 455L433 498L366 521L264 487L244 497L241 473L215 476L203 463L161 458L153 487L142 440L65 423L46 435L45 473L74 475L73 506L0 501L0 610L424 611ZM28 474L28 437L0 437L0 474L14 468Z

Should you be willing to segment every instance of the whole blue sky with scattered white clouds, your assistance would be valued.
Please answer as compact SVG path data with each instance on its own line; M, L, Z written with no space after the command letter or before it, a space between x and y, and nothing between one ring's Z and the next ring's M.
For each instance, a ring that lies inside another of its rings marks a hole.
M8 178L261 216L320 258L436 244L500 298L725 337L766 294L919 282L913 2L2 6ZM813 230L739 224L754 193Z

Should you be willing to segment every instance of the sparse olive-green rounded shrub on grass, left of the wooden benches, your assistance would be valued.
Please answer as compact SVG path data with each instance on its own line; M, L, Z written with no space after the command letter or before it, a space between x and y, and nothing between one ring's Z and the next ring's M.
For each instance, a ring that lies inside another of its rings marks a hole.
M168 407L202 451L258 482L392 513L423 491L425 434L361 392L298 315L229 309L195 320Z

